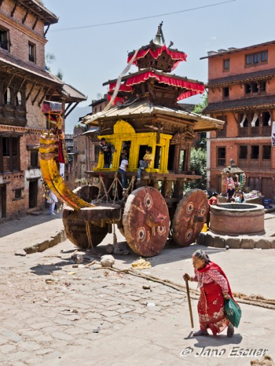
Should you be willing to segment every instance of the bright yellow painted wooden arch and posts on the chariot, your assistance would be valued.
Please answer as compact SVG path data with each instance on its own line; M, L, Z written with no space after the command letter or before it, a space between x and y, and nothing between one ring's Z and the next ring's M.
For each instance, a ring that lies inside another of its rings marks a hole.
M98 166L94 168L95 172L101 171L117 171L120 164L120 154L122 152L122 146L124 141L131 141L131 149L129 152L129 165L127 171L136 172L139 167L139 154L140 146L151 146L152 154L155 157L157 146L160 147L160 159L159 168L146 169L146 172L168 173L168 149L169 141L172 138L171 135L164 133L136 133L135 129L128 122L123 119L118 120L113 126L113 135L98 136L100 139L104 137L107 142L115 146L115 152L113 152L113 159L111 168L103 168L104 155L100 154L98 159Z

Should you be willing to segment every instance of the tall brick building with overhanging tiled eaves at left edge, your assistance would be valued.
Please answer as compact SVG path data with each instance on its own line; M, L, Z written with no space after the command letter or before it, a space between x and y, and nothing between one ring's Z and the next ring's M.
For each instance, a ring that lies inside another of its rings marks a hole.
M43 102L61 102L65 117L87 99L45 71L45 35L57 21L41 1L0 1L0 220L44 205L38 156L47 128Z

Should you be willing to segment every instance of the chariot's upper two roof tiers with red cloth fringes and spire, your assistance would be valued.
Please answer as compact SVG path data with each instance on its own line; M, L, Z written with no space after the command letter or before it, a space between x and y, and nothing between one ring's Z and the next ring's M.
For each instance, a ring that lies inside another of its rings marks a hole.
M179 62L186 61L186 56L184 52L166 47L160 23L154 41L128 54L128 62L139 70L103 85L109 84L109 98L114 105L148 99L162 106L176 106L179 100L205 91L203 82L170 74ZM120 83L119 88L117 83Z

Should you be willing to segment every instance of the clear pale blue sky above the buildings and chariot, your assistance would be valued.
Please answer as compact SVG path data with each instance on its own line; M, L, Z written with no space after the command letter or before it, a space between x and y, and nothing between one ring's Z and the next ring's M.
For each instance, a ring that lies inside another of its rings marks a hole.
M56 56L50 67L53 73L61 69L63 80L87 95L87 102L79 104L86 106L98 99L98 93L107 92L102 83L118 77L126 66L127 52L146 45L154 38L157 25L164 21L166 44L173 41L173 48L188 55L187 62L181 62L173 73L206 82L208 61L199 58L208 51L256 45L273 41L275 36L274 0L223 1L226 0L43 0L46 8L59 17L46 36L46 53ZM178 13L157 16L171 12ZM63 30L146 16L155 17ZM132 67L131 71L137 68ZM197 97L186 100L199 101Z

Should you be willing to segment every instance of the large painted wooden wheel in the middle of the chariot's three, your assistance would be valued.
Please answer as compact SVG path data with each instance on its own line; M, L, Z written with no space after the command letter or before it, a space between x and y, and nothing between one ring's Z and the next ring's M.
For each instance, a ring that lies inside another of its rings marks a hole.
M169 221L164 197L155 188L137 188L127 198L122 225L134 253L144 257L159 253L168 238Z

